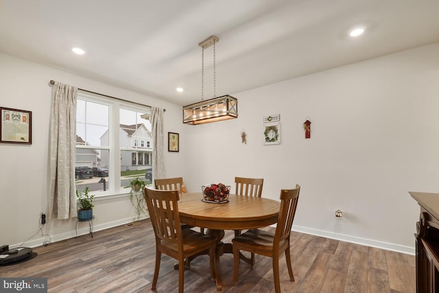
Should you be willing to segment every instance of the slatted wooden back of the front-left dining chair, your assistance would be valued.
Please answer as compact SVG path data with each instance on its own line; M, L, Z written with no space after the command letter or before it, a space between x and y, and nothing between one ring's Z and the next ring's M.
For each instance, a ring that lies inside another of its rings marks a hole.
M156 242L170 242L182 246L177 204L179 199L178 190L163 191L145 188L145 201Z

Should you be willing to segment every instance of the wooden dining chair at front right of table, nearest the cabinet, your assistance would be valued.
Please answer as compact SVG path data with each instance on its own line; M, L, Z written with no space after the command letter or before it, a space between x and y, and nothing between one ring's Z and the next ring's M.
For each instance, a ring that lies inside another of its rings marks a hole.
M279 209L277 226L274 234L261 229L252 229L232 240L233 259L235 261L233 268L234 285L236 285L238 281L239 250L250 251L251 253L257 253L258 255L272 257L274 291L276 293L281 292L281 284L279 281L279 257L281 256L281 253L285 252L289 279L290 281L294 281L291 255L289 253L289 237L291 234L294 214L296 213L299 192L299 185L296 185L295 189L281 190L281 207Z

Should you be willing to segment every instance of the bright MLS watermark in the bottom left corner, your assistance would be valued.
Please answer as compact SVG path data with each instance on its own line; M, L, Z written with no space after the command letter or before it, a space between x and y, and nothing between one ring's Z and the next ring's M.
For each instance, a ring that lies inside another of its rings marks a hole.
M47 278L0 278L0 292L47 293Z

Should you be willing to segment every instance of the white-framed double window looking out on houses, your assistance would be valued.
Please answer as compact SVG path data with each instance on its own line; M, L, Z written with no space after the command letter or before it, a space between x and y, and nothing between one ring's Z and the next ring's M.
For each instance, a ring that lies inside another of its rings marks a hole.
M152 139L150 108L80 92L76 110L76 189L120 194L136 176L145 180L152 158L152 149L144 148Z

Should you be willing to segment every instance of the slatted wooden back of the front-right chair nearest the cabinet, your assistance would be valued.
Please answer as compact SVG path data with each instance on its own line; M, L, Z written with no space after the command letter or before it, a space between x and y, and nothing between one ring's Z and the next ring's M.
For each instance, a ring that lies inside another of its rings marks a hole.
M296 184L295 189L281 190L281 207L279 209L276 224L276 233L274 234L275 244L279 244L280 242L283 242L283 240L289 239L294 215L296 214L299 193L300 185L298 184Z

